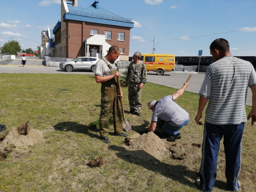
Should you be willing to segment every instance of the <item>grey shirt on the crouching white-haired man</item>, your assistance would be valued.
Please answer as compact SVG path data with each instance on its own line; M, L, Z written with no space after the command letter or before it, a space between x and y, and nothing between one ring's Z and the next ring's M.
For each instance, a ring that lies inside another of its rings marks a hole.
M178 127L188 120L189 114L173 101L172 95L167 95L156 104L151 122L157 122L158 118L169 121L170 125Z

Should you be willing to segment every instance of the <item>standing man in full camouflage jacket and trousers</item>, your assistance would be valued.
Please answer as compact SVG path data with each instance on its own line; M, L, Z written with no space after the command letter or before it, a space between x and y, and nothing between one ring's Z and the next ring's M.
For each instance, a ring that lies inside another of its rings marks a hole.
M128 85L130 114L141 116L139 112L141 109L141 90L143 84L146 83L147 70L145 63L140 60L140 52L135 52L132 58L133 61L127 68L125 87Z

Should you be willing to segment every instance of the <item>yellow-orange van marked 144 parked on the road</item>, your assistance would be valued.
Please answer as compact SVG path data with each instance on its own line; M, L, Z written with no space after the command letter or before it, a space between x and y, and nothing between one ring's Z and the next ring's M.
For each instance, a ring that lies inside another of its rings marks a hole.
M164 71L175 70L175 55L173 54L141 54L141 59L146 64L147 71L156 71L163 75Z

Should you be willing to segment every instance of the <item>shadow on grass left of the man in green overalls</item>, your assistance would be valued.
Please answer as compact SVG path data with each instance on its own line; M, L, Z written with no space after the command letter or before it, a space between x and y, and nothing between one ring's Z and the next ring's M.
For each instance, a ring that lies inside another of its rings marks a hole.
M100 132L98 128L91 128L90 126L86 126L83 124L78 124L76 122L68 121L68 122L61 122L57 123L53 126L55 130L59 131L72 131L76 133L83 133L86 134L92 138L98 138L100 139L100 135L94 134L90 132L91 130L93 132Z

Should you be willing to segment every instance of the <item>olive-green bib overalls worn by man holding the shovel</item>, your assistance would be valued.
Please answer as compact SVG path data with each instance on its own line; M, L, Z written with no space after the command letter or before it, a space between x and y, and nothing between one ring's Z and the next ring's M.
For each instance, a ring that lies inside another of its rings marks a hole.
M108 62L103 60L108 68L111 70L110 75L113 75L117 71L119 71L118 65L116 63L116 69L113 70L112 66L108 64ZM113 119L114 119L114 133L122 133L123 132L123 117L121 112L120 101L117 96L117 81L116 78L112 78L104 83L101 83L101 110L100 110L100 136L108 135L108 120L113 111Z

